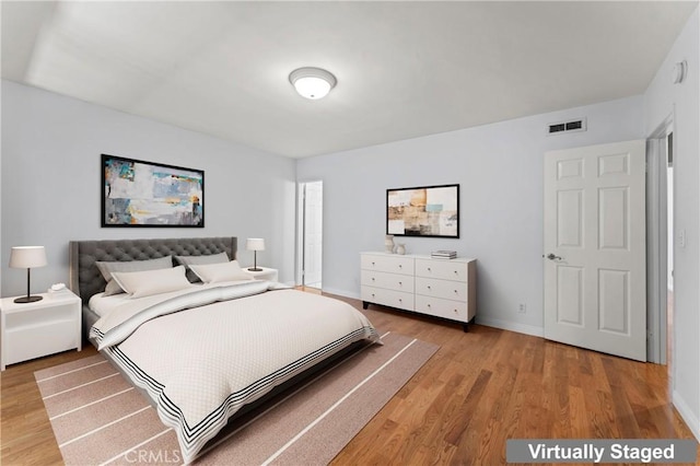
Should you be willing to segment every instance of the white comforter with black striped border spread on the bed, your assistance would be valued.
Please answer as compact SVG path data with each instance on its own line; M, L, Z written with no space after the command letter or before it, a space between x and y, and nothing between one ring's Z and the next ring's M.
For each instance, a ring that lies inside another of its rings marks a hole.
M242 406L354 341L378 341L349 304L267 281L131 300L91 337L145 388L187 463Z

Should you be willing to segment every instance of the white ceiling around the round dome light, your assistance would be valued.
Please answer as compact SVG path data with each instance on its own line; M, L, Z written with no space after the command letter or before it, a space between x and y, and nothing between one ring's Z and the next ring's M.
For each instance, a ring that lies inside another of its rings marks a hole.
M641 94L697 5L3 0L2 78L302 158Z

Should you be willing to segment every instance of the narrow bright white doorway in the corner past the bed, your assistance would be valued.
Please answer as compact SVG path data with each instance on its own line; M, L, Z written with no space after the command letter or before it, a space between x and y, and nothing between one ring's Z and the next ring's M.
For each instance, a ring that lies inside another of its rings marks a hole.
M323 207L324 183L299 184L300 254L298 277L304 288L323 287Z

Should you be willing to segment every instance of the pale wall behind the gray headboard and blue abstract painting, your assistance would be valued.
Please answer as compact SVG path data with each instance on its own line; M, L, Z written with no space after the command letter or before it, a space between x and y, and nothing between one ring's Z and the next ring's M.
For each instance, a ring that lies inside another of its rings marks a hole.
M205 171L205 228L101 228L101 159L107 153ZM33 292L68 283L68 242L138 237L266 238L258 254L294 279L295 162L141 117L2 81L0 275L2 295L23 294L26 273L8 267L10 248L45 245Z

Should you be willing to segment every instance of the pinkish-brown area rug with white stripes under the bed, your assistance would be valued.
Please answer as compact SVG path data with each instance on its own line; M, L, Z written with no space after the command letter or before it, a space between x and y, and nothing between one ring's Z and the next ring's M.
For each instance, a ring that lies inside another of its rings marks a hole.
M194 464L328 464L439 349L382 339L232 422ZM175 432L101 354L34 375L67 465L183 463Z

